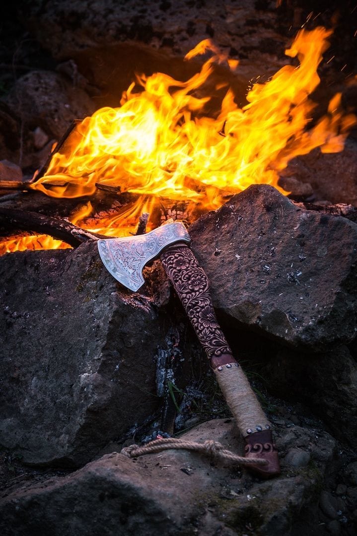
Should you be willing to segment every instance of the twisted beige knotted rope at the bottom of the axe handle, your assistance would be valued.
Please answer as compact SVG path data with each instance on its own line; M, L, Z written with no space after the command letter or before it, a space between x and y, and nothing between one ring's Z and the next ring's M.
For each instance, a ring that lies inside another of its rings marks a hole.
M238 456L234 454L234 452L224 449L223 445L218 441L206 440L204 443L196 443L194 441L184 441L174 437L154 440L144 446L125 446L121 450L121 454L128 458L136 458L138 456L143 456L144 454L152 454L154 452L161 452L162 450L168 449L194 450L210 456L211 458L229 460L239 465L267 465L268 463L267 460L263 458L244 458L243 456Z

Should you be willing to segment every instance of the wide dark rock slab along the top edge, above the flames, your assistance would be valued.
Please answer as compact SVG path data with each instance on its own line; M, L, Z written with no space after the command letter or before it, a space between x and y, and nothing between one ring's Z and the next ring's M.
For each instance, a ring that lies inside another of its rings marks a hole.
M213 39L241 60L250 78L252 66L258 76L269 72L271 63L282 65L289 42L278 34L277 11L256 8L250 0L241 0L239 6L213 0L204 4L150 0L145 6L140 1L106 0L105 7L102 2L67 0L46 6L32 2L22 5L20 12L28 30L60 58L95 43L111 42L142 43L183 56L203 39Z

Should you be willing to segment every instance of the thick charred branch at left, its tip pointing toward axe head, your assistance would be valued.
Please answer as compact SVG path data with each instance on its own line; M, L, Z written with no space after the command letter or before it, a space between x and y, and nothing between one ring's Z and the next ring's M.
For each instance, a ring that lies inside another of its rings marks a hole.
M81 229L64 219L51 218L37 212L18 209L0 209L0 227L4 230L26 230L47 234L68 243L73 248L88 240L106 239L107 236Z

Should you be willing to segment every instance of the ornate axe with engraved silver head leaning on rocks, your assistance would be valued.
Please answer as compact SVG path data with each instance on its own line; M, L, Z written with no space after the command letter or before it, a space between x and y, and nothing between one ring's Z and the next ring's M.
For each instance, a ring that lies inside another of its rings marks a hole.
M273 477L280 468L271 424L217 322L209 280L189 244L187 229L175 221L144 235L98 240L98 249L111 275L133 292L144 285L144 266L160 258L236 419L246 443L244 456L268 462L249 469L262 478Z

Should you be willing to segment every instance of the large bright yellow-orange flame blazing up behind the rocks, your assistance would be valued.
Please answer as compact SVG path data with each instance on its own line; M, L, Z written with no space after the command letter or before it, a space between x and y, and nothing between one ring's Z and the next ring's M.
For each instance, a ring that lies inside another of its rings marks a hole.
M86 117L32 188L53 197L80 197L93 195L96 184L106 184L138 194L135 206L91 228L109 236L128 234L143 206L150 211L148 205L157 198L190 200L212 210L252 183L284 192L278 178L289 160L315 147L341 151L356 122L343 113L337 94L328 113L311 126L315 103L309 95L319 84L317 68L331 33L323 27L302 29L286 50L299 65L285 65L266 83L254 84L242 108L227 88L214 116L205 113L211 97L204 95L213 64L226 63L234 70L237 62L210 40L200 42L185 59L212 55L196 75L187 81L160 72L137 76L121 107L101 108ZM83 218L76 222L85 227Z

